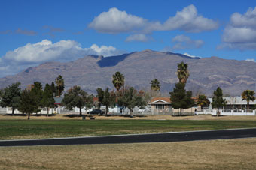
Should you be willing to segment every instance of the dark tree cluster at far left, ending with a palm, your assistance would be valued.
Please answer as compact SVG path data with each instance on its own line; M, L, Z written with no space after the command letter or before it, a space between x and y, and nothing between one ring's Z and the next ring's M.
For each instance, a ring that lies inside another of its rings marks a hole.
M14 110L18 109L19 112L28 114L28 119L32 113L38 114L41 108L47 108L48 116L49 109L54 107L53 97L60 96L65 88L62 76L59 75L55 82L56 85L54 82L51 85L47 83L44 89L41 82L34 82L23 91L20 88L20 82L13 83L1 91L0 106L11 107L13 115Z

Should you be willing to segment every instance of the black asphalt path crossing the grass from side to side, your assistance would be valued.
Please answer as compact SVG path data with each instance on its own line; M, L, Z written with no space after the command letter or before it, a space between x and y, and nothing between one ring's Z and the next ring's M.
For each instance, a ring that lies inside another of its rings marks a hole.
M238 139L256 137L256 128L233 130L201 130L180 133L147 133L116 136L90 136L56 139L0 140L0 146L35 146L35 145L87 145L120 144L141 142L181 142L212 139Z

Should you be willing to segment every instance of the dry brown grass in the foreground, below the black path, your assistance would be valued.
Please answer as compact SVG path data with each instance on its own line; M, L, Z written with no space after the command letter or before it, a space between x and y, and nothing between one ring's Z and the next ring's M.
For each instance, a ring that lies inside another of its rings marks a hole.
M256 138L0 148L0 169L256 169Z

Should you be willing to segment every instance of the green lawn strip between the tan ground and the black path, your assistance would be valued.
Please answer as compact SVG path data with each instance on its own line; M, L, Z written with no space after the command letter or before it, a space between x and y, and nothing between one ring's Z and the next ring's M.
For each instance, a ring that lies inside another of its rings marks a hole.
M0 120L0 139L38 139L256 127L256 121Z

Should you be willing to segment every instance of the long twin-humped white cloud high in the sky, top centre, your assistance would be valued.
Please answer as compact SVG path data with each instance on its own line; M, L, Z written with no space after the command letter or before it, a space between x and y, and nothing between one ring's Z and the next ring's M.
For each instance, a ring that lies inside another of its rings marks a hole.
M218 22L207 19L197 13L197 8L191 4L178 11L175 16L169 17L163 24L158 21L148 21L126 11L120 11L116 7L108 12L100 13L88 25L102 33L139 32L151 33L152 31L181 30L188 32L211 31L218 28Z

